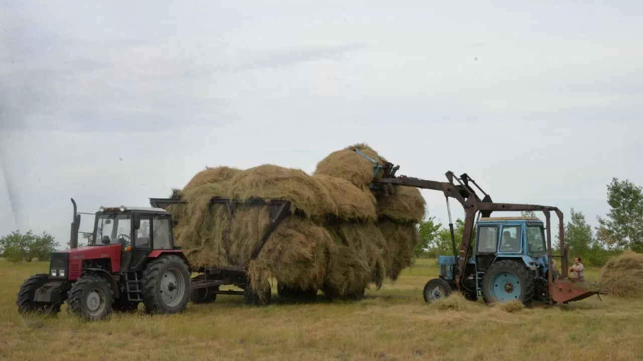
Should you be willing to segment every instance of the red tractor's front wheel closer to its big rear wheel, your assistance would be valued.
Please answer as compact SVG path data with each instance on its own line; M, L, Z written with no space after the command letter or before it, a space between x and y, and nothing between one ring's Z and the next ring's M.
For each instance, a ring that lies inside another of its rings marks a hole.
M83 276L69 290L67 311L86 321L106 319L112 312L114 295L112 287L100 276Z

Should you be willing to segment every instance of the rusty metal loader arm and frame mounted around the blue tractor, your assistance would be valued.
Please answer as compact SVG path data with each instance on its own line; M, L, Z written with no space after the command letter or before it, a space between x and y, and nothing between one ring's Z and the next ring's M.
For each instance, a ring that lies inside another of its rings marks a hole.
M449 207L449 197L455 198L462 204L465 211L464 221L464 234L462 236L462 243L460 244L460 252L458 259L457 270L455 272L455 285L458 290L462 286L462 279L466 272L466 262L473 247L471 247L473 229L476 220L476 213L480 212L483 217L491 216L495 211L541 211L545 215L545 227L547 231L547 259L548 270L553 270L552 258L561 258L561 275L564 279L567 277L568 269L568 247L565 247L565 224L563 222L563 212L557 207L552 206L539 206L535 204L512 204L512 203L494 203L491 196L476 184L475 180L471 179L466 173L462 174L460 178L456 177L451 171L446 173L448 182L439 182L434 180L424 180L413 177L406 177L404 175L399 177L387 177L387 170L394 170L393 164L387 164L385 167L384 177L375 179L374 182L380 184L394 184L397 186L408 186L421 189L433 189L442 191L446 197L447 207ZM458 184L455 184L455 182ZM469 184L473 184L483 194L484 198L480 199L475 190ZM559 238L560 249L562 254L552 254L552 241L551 241L551 224L550 213L554 211L559 219ZM450 217L450 208L449 208ZM451 238L454 242L454 253L456 252L455 238L453 236L453 223L449 220L449 228L451 231ZM454 256L457 256L454 254ZM599 292L588 292L583 288L573 285L570 282L561 279L554 279L553 272L548 272L548 288L549 288L549 301L550 303L567 303L570 301L578 301Z

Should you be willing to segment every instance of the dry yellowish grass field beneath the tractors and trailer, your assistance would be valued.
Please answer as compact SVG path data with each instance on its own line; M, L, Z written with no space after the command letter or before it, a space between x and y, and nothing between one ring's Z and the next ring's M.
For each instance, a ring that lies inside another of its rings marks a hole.
M507 313L482 303L442 311L424 303L437 276L420 260L355 303L243 306L238 296L188 304L183 315L114 314L104 322L23 318L15 295L48 263L0 260L0 360L642 360L643 301L597 296ZM592 281L598 270L586 269Z

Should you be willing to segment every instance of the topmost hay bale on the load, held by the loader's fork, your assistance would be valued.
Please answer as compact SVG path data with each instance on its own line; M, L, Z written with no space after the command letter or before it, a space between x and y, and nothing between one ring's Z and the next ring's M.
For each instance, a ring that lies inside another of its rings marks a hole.
M373 182L373 163L353 149L359 149L380 164L386 162L370 146L359 143L327 155L317 163L313 174L345 179L361 189L368 189Z

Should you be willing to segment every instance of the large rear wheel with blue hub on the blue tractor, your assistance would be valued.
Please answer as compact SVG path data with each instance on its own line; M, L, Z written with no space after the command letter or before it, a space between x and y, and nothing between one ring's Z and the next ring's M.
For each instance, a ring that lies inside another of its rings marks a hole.
M482 298L487 304L518 300L529 306L534 298L534 277L517 261L493 263L482 277Z

